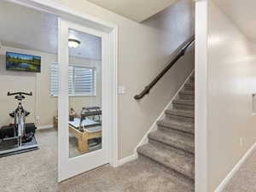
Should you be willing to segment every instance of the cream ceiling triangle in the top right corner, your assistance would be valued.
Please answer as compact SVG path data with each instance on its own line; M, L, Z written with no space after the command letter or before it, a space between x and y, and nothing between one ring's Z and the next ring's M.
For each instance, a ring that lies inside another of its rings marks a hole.
M213 0L236 23L247 38L256 43L255 0Z

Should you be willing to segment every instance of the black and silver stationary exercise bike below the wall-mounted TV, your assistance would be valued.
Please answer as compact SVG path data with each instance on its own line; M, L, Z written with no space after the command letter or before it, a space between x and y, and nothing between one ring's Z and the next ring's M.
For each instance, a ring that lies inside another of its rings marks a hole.
M25 96L32 96L32 92L8 92L7 96L15 96L18 107L9 113L9 116L14 118L14 125L3 126L0 130L3 140L0 146L0 157L38 149L38 143L34 137L37 128L33 123L26 124L26 117L30 113L22 106L22 100Z

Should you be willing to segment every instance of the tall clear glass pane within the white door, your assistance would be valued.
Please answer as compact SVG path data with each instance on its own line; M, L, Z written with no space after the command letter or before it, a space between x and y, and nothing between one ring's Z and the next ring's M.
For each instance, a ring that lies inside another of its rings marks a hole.
M102 39L69 30L69 158L102 148Z

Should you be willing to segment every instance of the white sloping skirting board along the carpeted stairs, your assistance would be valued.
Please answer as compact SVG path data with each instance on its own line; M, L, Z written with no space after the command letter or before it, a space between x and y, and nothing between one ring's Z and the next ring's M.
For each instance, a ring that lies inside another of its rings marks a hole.
M193 70L191 73L189 73L189 77L194 73L195 70ZM137 144L137 147L134 149L134 154L137 154L137 148L147 144L148 143L148 133L152 132L152 131L156 131L157 130L157 122L161 119L165 118L165 113L166 110L168 108L172 107L172 101L177 97L178 93L183 89L184 84L186 84L189 81L189 77L184 81L184 83L180 86L180 88L177 90L177 92L175 93L174 96L172 96L171 101L166 105L166 108L160 113L159 117L157 119L155 119L153 125L151 125L151 127L148 129L148 131L146 132L146 134L144 135L143 139Z

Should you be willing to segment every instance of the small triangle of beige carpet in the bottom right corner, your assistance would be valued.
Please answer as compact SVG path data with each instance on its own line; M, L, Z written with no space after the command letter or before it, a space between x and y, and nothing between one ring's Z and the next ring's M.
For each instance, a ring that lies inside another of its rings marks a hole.
M256 191L256 150L253 151L236 175L231 178L224 192Z

